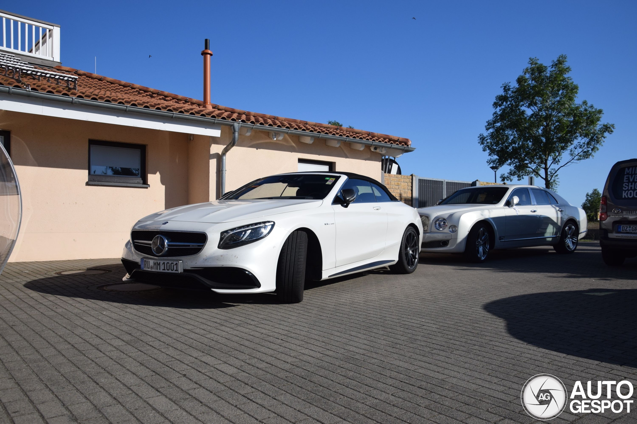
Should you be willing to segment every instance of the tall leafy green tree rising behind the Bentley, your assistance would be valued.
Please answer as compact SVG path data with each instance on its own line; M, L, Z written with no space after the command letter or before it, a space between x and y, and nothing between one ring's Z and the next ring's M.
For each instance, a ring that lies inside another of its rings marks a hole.
M489 152L489 165L510 167L503 182L535 175L554 189L561 168L592 157L613 132L615 125L599 123L602 109L575 102L579 87L569 72L566 55L550 67L530 58L516 86L502 85L478 142Z

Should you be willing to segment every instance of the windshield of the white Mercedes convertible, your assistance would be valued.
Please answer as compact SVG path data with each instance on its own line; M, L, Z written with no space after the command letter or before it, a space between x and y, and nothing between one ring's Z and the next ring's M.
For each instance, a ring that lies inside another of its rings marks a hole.
M326 174L273 175L246 184L224 197L224 200L320 200L329 194L338 179L338 175Z

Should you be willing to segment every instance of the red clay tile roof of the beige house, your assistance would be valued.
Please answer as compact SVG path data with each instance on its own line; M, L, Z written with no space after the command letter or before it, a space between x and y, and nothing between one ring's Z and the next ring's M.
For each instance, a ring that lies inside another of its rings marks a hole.
M148 109L158 109L175 113L208 116L229 121L241 121L255 125L264 125L265 127L289 128L292 130L307 131L308 133L340 135L341 137L397 144L399 146L410 146L412 144L410 139L394 137L392 135L378 134L353 128L334 127L333 125L316 122L292 120L290 118L281 118L280 116L262 113L252 113L216 104L212 105L213 109L205 109L203 107L203 101L201 100L162 92L154 88L127 83L118 79L80 71L79 69L64 66L56 66L54 69L56 72L78 76L77 90L75 90L73 86L68 87L66 84L58 85L55 82L48 82L45 78L38 81L37 78L27 75L22 76L22 83L29 84L31 90L38 90L38 92L69 95L71 97L101 100L103 102L146 107ZM24 86L20 85L18 81L11 78L11 76L4 76L2 74L0 74L0 84L24 88Z

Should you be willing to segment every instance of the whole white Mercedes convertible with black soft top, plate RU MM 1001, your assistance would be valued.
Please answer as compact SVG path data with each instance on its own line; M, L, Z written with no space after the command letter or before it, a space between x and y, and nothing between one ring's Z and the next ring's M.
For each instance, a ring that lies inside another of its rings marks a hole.
M303 300L306 279L418 266L422 223L369 177L297 172L250 182L220 200L162 210L131 229L125 281Z

